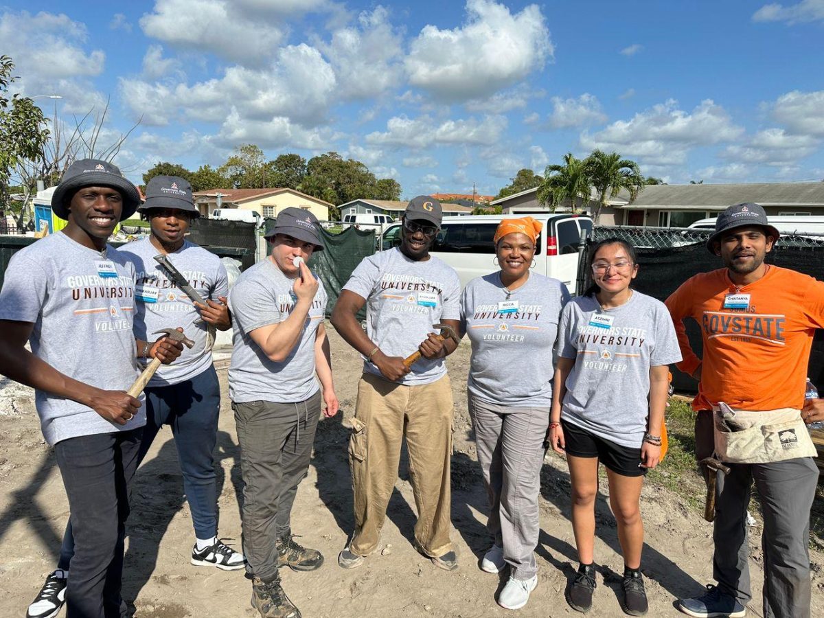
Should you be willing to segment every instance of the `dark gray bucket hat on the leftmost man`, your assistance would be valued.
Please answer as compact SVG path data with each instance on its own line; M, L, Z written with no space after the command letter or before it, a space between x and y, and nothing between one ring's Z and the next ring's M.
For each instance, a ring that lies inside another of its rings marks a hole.
M52 194L52 212L61 219L68 219L68 207L77 191L83 187L111 187L123 195L120 221L128 219L140 205L138 188L123 177L119 167L96 159L81 159L68 166L63 180Z

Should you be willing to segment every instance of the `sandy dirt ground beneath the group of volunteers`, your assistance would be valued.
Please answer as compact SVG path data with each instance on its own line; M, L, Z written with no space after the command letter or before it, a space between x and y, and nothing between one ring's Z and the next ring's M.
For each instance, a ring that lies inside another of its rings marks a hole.
M320 549L325 564L313 573L282 572L289 597L307 618L508 614L494 601L503 576L478 568L489 537L485 492L466 414L466 340L448 360L455 396L452 540L460 569L452 573L437 569L413 549L414 499L405 461L388 509L382 554L370 557L360 569L338 567L336 556L353 528L344 424L354 412L360 362L332 329L330 342L341 413L321 421L315 456L292 517L293 531L302 535L300 542ZM216 453L220 534L239 545L242 480L232 411L225 396L226 366L225 359L218 362L224 389ZM606 487L602 492L597 501L598 587L590 616L621 616L623 563ZM132 504L124 598L133 602L134 616L256 616L249 605L250 583L242 572L197 568L189 562L194 533L168 429L157 437L138 471ZM652 484L644 488L642 511L649 616L683 616L674 607L675 599L700 592L712 581L711 525L677 494ZM44 576L54 569L67 517L63 484L40 433L32 392L0 379L0 616L25 615ZM756 589L749 615L762 616L760 530L751 528L751 532ZM564 602L564 588L577 565L569 523L569 475L564 460L554 454L547 456L541 473L541 537L536 553L540 581L520 614L577 616ZM814 551L812 563L812 616L824 616L824 554Z

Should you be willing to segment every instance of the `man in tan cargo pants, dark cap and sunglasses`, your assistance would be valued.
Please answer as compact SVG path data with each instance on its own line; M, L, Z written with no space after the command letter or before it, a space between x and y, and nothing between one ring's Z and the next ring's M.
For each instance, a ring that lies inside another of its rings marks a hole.
M449 540L452 389L444 362L457 344L439 338L433 325L457 332L460 283L452 268L429 255L441 218L437 199L412 199L400 248L364 259L332 314L364 361L349 440L356 528L338 556L344 569L360 566L377 549L404 438L418 508L415 545L436 566L457 568ZM364 304L365 333L355 317ZM404 358L416 350L423 358L409 368Z

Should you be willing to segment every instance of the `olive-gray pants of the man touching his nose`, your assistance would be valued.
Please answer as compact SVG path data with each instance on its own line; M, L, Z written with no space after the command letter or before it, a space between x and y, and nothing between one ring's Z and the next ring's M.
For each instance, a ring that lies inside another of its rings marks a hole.
M321 391L297 403L250 401L232 410L241 445L246 572L269 583L278 578L275 542L292 532L292 505L307 475Z

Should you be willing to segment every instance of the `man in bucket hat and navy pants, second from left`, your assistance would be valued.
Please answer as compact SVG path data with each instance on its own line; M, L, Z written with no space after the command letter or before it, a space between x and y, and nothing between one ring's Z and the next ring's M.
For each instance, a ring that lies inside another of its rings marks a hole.
M212 456L218 436L220 384L207 341L207 325L219 330L232 328L225 304L226 269L217 255L185 239L191 220L200 214L194 208L188 181L155 176L146 185L146 202L138 211L151 222L151 235L119 248L136 274L134 334L145 339L149 333L176 323L194 340L194 346L185 349L175 364L158 368L146 387L146 426L137 465L157 432L164 424L169 425L194 525L192 564L242 569L243 555L218 539L217 479ZM176 288L170 274L153 259L158 254L168 256L200 296L208 299L208 306L195 307ZM69 525L57 565L64 573L69 571L73 552Z

